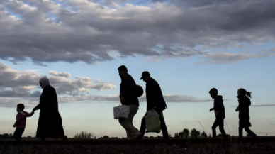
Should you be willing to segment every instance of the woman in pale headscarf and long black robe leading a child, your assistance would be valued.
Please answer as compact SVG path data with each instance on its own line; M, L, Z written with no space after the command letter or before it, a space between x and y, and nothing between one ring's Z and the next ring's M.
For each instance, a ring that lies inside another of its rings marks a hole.
M39 83L43 92L38 106L33 108L33 111L40 109L36 137L41 138L41 140L45 140L45 138L62 138L62 140L66 140L67 136L64 136L62 118L58 111L55 88L50 86L50 81L47 77L41 78Z

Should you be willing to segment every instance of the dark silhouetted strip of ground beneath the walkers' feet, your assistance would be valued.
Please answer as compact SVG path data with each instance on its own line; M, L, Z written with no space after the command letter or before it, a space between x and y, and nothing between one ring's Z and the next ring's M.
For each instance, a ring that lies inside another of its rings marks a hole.
M0 153L275 153L275 138L0 141Z

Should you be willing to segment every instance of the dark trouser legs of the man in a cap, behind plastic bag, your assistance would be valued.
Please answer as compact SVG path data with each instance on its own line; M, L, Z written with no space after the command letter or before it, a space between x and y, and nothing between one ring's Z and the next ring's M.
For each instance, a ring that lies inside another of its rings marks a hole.
M162 137L163 138L169 138L169 134L167 131L167 127L164 121L164 116L162 111L159 110L155 110L157 111L157 114L159 114L159 121L160 121L160 128L162 129ZM147 112L146 114L143 116L142 121L141 121L141 126L140 126L140 133L142 133L142 136L145 135L145 130L146 130L146 123L145 123L145 116L147 116Z

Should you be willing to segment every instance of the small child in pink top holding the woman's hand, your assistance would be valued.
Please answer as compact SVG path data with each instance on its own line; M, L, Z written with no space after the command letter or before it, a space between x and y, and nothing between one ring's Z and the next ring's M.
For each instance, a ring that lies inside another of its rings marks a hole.
M13 138L16 140L21 140L22 134L25 131L26 127L26 117L33 116L34 111L30 114L24 111L25 106L24 104L18 104L16 111L18 112L16 115L16 123L14 123L13 127L16 127L16 131L13 133Z

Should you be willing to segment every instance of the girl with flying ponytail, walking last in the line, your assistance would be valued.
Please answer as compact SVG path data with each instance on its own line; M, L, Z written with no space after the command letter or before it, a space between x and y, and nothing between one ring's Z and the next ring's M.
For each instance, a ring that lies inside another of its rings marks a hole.
M239 106L235 111L239 111L239 138L242 138L242 130L245 131L249 136L257 137L257 135L249 129L251 127L250 117L249 117L249 106L251 105L251 92L247 92L245 89L241 88L237 90L237 98L239 99Z

